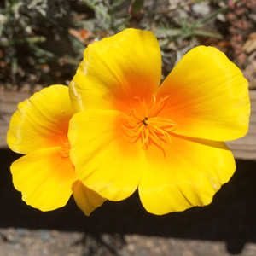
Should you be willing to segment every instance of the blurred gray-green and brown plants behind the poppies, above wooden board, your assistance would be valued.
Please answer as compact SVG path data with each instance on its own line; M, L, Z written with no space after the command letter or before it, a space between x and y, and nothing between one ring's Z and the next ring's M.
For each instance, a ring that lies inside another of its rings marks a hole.
M218 47L246 68L256 56L255 14L256 0L5 0L2 87L68 84L88 44L127 27L154 32L163 77L198 44Z

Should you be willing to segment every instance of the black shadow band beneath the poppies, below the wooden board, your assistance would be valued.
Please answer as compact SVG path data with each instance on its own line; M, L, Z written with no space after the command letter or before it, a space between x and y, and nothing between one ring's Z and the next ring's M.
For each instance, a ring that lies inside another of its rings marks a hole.
M226 241L230 253L241 253L247 241L256 242L256 162L236 160L236 173L207 207L154 216L146 212L137 193L119 203L106 202L87 218L73 199L54 212L26 206L15 191L9 166L20 157L0 150L0 227L77 230L98 236L142 234L184 239Z

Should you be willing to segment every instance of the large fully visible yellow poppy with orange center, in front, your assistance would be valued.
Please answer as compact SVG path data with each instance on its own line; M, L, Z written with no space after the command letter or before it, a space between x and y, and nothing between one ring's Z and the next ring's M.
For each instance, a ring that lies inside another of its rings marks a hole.
M127 29L89 45L70 84L79 179L111 201L138 188L154 214L212 201L236 169L223 141L247 133L250 112L247 80L218 49L196 47L160 76L153 33Z

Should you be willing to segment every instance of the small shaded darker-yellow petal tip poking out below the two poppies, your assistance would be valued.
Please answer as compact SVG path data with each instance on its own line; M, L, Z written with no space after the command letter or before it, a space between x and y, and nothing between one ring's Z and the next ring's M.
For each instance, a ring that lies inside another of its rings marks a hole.
M101 195L85 187L79 180L73 183L72 190L74 200L86 216L90 216L91 212L101 207L106 201Z

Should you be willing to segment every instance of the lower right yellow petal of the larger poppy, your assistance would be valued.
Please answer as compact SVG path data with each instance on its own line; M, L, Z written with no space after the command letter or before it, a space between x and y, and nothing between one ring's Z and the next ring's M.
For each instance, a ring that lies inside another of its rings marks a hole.
M172 136L165 153L148 147L147 172L139 195L148 212L166 214L205 206L236 169L230 149L221 142Z

